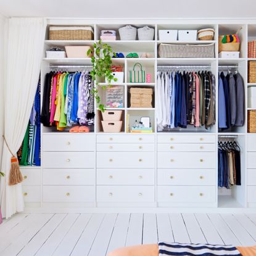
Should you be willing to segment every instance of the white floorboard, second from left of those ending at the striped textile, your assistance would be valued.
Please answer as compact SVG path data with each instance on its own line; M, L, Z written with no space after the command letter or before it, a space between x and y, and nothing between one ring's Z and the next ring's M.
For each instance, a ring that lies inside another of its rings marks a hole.
M191 242L181 214L170 213L170 221L175 242Z

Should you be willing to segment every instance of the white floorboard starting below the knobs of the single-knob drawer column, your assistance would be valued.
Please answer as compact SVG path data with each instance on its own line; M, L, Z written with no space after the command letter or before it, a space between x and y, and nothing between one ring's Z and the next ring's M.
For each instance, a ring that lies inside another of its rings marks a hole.
M38 252L36 252L36 256L52 255L56 248L59 246L64 236L68 233L68 230L75 223L78 216L78 213L67 214L64 220L51 234L51 236L49 236L46 242L44 242L43 246L41 246Z

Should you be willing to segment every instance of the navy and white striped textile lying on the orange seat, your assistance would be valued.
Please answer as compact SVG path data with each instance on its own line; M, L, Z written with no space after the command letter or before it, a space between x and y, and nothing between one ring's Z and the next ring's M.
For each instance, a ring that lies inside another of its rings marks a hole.
M180 244L172 242L167 244L159 242L159 256L242 256L234 246L213 246L210 244Z

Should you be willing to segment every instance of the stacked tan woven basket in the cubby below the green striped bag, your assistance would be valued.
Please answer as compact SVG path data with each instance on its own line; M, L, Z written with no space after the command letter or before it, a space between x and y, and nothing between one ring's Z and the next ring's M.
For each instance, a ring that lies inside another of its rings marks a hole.
M153 90L151 88L131 88L130 94L130 107L152 107Z

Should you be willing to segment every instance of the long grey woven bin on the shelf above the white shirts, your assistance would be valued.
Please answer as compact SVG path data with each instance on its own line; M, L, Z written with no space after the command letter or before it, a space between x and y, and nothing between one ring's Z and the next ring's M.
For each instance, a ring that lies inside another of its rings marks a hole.
M214 43L212 44L160 44L160 58L214 58Z

